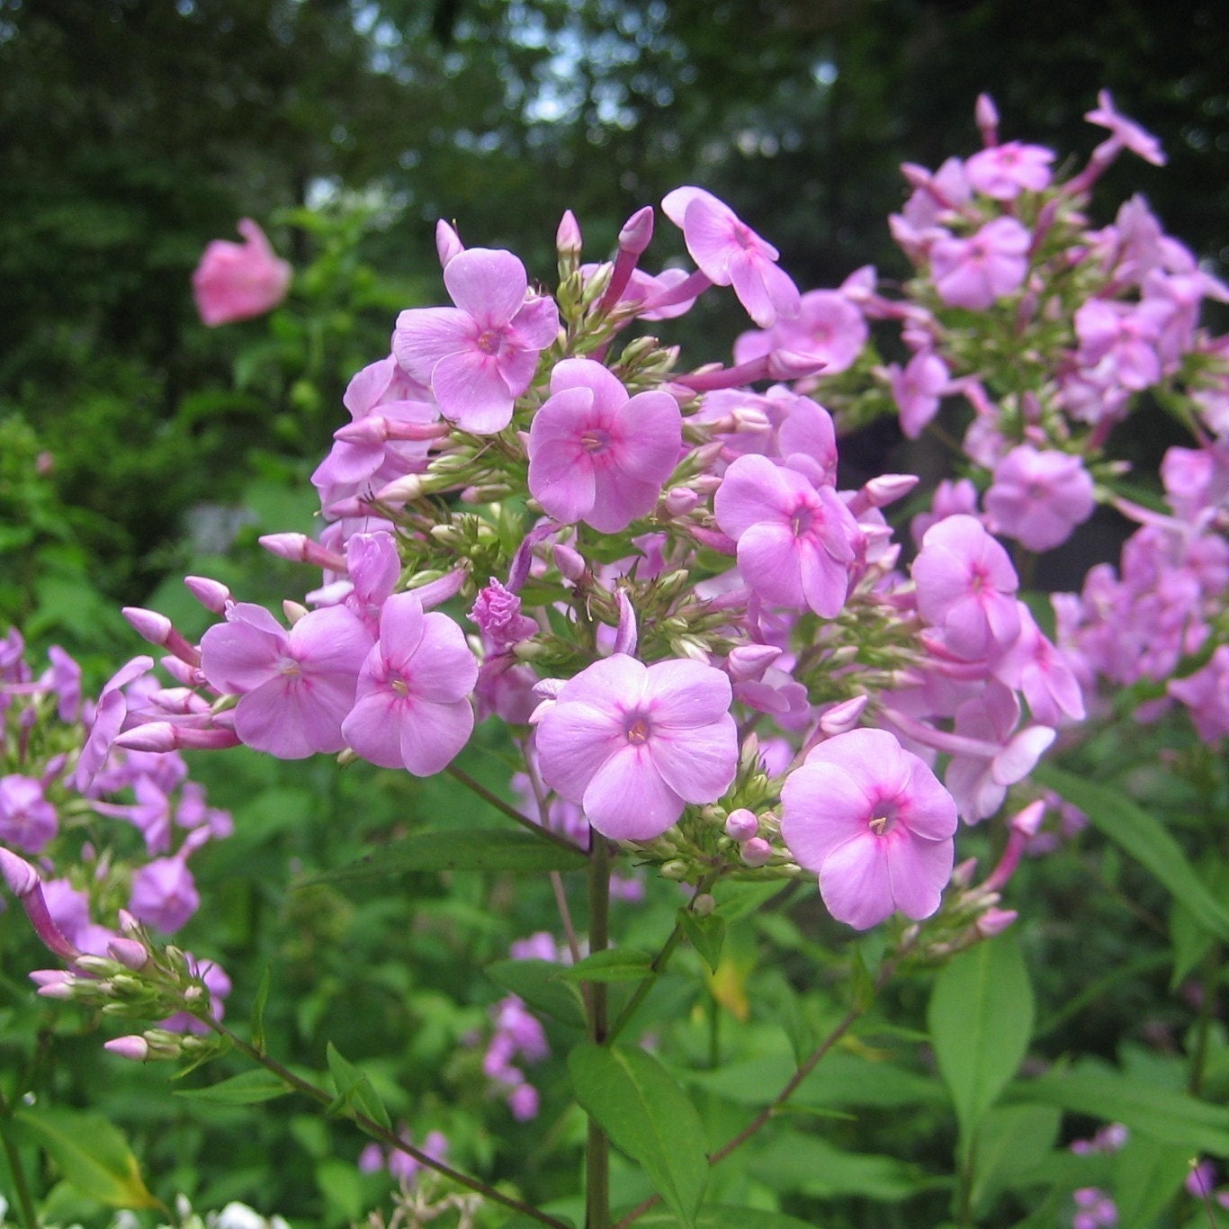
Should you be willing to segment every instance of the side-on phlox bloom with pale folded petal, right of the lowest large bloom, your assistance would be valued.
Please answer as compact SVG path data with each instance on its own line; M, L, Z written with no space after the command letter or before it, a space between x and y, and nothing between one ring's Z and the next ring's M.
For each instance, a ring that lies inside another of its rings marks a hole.
M1047 726L1016 730L1019 720L1020 702L994 678L981 696L956 709L955 735L968 745L955 751L943 782L967 823L993 815L1003 805L1008 785L1027 777L1054 741L1054 731Z

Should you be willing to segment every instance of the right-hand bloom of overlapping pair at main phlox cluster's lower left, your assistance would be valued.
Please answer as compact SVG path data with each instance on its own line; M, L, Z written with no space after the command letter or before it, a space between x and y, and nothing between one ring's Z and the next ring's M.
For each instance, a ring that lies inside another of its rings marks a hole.
M385 602L380 640L363 662L342 737L382 768L431 777L469 740L468 696L477 678L461 628L446 614L424 614L415 594L395 594Z

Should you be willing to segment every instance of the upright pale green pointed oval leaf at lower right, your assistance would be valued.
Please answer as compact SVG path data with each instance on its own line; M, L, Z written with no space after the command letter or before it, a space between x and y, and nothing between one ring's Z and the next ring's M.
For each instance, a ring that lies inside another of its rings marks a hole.
M960 952L935 978L927 1021L967 1148L1032 1035L1032 987L1015 935Z

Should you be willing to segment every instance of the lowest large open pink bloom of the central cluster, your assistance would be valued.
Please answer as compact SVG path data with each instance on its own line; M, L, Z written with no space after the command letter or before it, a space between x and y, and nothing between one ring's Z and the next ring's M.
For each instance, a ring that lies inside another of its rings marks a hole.
M897 909L913 919L938 909L956 804L886 730L821 742L787 778L782 807L782 836L838 922L865 930Z

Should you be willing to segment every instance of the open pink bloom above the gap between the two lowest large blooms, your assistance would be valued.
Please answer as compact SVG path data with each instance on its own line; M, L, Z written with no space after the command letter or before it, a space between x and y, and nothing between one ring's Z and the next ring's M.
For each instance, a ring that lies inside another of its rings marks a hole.
M836 618L865 537L830 487L767 457L739 457L714 499L717 524L737 543L739 571L769 602Z

